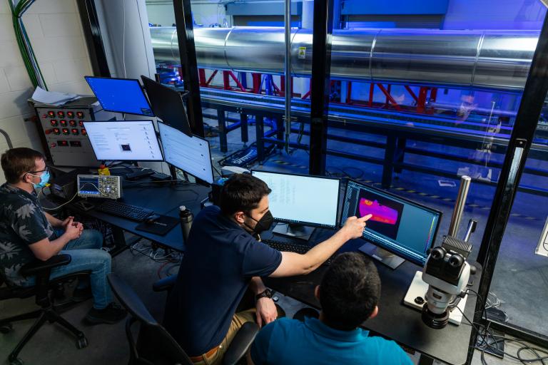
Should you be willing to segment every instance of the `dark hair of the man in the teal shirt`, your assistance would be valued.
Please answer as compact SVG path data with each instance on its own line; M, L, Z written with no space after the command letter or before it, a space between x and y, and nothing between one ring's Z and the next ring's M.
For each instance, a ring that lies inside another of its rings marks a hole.
M380 298L380 277L370 259L358 252L338 255L320 284L325 324L350 331L368 319Z

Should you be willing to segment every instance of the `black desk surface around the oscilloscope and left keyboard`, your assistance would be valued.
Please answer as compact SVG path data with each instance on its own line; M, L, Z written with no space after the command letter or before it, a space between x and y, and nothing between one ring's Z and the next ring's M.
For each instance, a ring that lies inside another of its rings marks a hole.
M121 202L148 208L160 215L171 217L178 217L179 206L185 205L196 216L200 212L201 200L207 197L210 191L210 187L191 183L170 185L169 183L148 183L148 181L144 179L137 182L124 181ZM71 203L66 205L66 207L73 212L78 212L80 215L108 222L122 230L156 242L163 247L168 247L178 252L185 250L181 227L174 227L165 236L154 235L153 233L136 230L139 222L133 220L109 215L95 209L84 211Z

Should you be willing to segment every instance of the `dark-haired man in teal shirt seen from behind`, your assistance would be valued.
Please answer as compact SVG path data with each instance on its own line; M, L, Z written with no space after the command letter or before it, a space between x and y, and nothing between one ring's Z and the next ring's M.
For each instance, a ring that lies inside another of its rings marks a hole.
M357 252L339 255L315 289L320 318L279 319L264 327L251 346L248 364L412 365L394 341L360 329L379 308L375 265Z

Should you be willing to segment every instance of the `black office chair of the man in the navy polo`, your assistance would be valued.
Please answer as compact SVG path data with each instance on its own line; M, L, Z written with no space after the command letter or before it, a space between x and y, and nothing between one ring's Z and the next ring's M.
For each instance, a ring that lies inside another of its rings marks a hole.
M185 351L146 309L137 294L116 274L108 274L108 283L118 301L130 314L126 322L126 335L129 342L129 365L179 364L193 365ZM166 288L167 289L167 288ZM141 325L135 340L131 327L136 322ZM223 358L224 365L235 365L245 356L253 343L259 328L257 324L246 322L228 346Z

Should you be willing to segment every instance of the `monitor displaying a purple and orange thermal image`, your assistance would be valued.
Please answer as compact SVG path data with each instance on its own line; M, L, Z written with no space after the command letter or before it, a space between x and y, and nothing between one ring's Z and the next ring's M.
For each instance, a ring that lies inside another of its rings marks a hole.
M427 250L434 243L442 212L399 197L390 192L348 180L342 205L341 224L347 217L372 214L362 238L397 255L366 244L360 251L395 268L404 259L423 266Z

